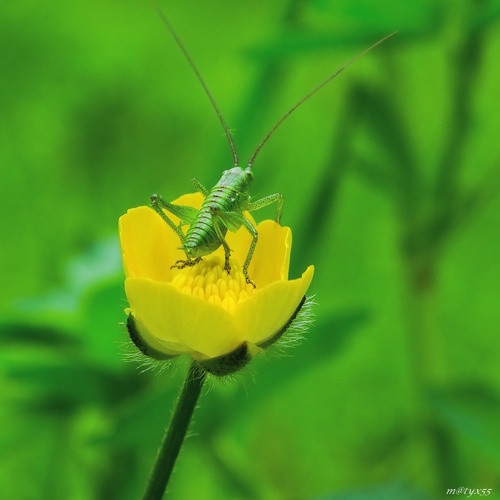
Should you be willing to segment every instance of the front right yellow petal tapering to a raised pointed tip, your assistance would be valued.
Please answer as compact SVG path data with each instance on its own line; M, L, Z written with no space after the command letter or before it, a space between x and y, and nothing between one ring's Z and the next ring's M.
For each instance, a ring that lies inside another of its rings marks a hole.
M243 334L241 340L259 344L274 336L297 309L313 274L314 266L309 266L301 278L275 281L238 304L235 317Z

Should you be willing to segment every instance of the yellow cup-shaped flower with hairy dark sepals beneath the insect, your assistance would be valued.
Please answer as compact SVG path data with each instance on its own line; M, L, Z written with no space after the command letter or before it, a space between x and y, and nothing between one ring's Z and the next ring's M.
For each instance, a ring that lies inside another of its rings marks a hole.
M199 208L202 201L201 194L193 194L174 203ZM180 240L149 207L128 210L119 231L130 304L127 327L134 343L156 359L188 354L218 375L239 369L282 335L313 277L310 266L301 278L288 280L292 234L269 220L257 225L259 240L249 267L255 289L241 268L251 241L244 228L227 233L230 274L224 271L222 248L192 267L172 269L185 259Z

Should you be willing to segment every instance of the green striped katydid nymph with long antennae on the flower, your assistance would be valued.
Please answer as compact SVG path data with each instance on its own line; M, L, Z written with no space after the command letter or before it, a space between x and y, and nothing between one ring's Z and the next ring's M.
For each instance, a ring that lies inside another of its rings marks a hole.
M260 208L266 207L272 203L277 204L276 209L276 222L280 222L281 213L283 211L284 198L281 194L272 194L265 196L256 201L252 201L250 197L250 185L253 179L252 166L254 160L264 144L271 137L274 131L281 125L281 123L293 112L295 111L304 101L309 99L313 94L315 94L319 89L325 86L330 80L335 78L344 69L350 66L357 59L365 55L370 50L374 49L377 45L380 45L388 38L392 37L395 33L391 33L386 37L382 38L378 42L374 43L368 49L364 50L350 61L348 61L344 66L340 67L334 73L332 73L328 78L326 78L322 83L310 91L305 97L303 97L299 102L297 102L292 108L290 108L271 128L271 130L265 135L264 139L255 149L254 153L250 157L246 168L241 168L239 166L238 154L231 137L229 128L219 110L212 94L210 93L205 81L201 77L196 65L194 64L191 56L187 52L180 38L177 36L176 32L170 25L168 19L165 15L158 9L158 13L167 27L168 31L176 41L177 45L184 53L187 61L189 62L191 68L193 69L196 77L201 83L205 94L210 99L212 106L217 113L219 120L224 128L231 152L233 155L234 167L229 170L225 170L222 173L222 177L217 182L217 184L212 189L207 189L198 180L193 179L193 184L196 189L200 191L205 197L203 204L199 210L183 205L177 205L174 203L168 203L164 201L161 196L156 194L151 196L151 207L158 213L158 215L170 226L170 228L179 236L181 240L180 249L184 250L186 254L185 260L178 260L171 267L182 269L186 266L193 266L200 262L201 258L210 255L212 252L217 250L220 246L224 249L224 269L230 273L231 266L229 263L229 257L231 254L231 249L229 248L225 236L227 231L237 231L242 226L250 233L252 236L252 241L250 248L243 264L243 275L245 276L246 282L253 285L255 284L250 279L248 275L248 267L252 260L255 247L257 245L258 233L252 222L245 216L244 212L252 212ZM180 224L176 225L172 219L165 213L165 211L170 212L174 216L180 219ZM183 226L188 226L186 232L182 230Z

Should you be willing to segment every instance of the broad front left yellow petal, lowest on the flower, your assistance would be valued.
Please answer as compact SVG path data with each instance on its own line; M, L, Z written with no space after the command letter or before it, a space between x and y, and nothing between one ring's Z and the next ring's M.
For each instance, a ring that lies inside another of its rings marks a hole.
M132 314L152 336L183 346L195 358L220 356L241 343L232 315L169 283L128 278L125 291Z

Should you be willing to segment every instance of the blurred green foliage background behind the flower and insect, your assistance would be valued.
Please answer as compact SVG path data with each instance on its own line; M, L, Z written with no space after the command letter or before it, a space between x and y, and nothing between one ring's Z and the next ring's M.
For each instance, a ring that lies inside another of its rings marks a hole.
M171 498L500 493L500 2L165 2L281 192L316 324L201 399ZM185 366L126 363L117 219L213 185L217 117L148 2L0 4L0 497L140 497ZM272 217L273 209L257 213Z

